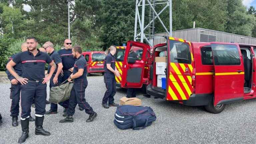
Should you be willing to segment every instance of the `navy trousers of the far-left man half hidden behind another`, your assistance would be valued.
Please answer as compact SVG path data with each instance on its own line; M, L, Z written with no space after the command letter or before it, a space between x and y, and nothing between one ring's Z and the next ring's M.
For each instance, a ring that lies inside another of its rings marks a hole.
M11 84L11 93L10 93L10 99L12 99L11 104L11 117L18 116L19 115L19 102L20 102L20 87L21 84L13 85Z

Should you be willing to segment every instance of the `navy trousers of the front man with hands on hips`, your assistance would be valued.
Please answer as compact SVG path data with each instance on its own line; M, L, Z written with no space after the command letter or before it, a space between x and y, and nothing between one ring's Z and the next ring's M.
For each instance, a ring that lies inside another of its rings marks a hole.
M42 81L31 80L28 80L27 84L21 85L21 118L29 117L33 100L35 102L35 116L40 117L45 114L46 87L47 84L42 84Z

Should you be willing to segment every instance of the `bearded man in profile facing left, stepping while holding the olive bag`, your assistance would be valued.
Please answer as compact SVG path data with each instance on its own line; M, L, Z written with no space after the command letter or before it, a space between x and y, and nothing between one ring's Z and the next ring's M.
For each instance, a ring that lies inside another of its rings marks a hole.
M82 56L82 49L80 46L75 46L72 49L72 54L76 58L74 65L73 74L69 77L68 81L74 82L69 98L69 107L67 110L67 117L60 120L60 123L73 122L73 114L75 113L76 105L78 104L81 108L89 114L89 118L86 122L92 122L97 113L93 111L92 107L85 100L85 89L88 85L87 81L87 64L84 56Z

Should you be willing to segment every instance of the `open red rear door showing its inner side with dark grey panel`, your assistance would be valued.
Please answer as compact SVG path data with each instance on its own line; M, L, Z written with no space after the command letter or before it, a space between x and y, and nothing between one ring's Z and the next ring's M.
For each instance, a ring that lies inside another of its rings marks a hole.
M146 61L145 61L146 54L148 50L150 50L150 46L147 44L135 42L135 41L127 42L124 61L123 61L121 87L123 88L141 88L142 87L143 83L145 82L145 80L143 79L143 74L144 74L144 67L146 64Z

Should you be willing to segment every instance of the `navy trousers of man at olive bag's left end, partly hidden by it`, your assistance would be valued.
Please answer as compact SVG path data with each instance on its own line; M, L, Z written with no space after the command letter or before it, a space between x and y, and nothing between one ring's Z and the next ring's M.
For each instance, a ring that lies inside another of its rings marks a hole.
M58 83L57 84L54 84L53 83L53 78L54 78L55 75L52 75L51 79L50 79L50 89L51 87L55 87L55 86L58 86L59 84L62 83L62 76L58 76ZM64 102L60 102L58 103L59 105L63 106L64 108L68 108L68 104L69 104L69 100L66 100ZM51 103L51 108L50 108L51 111L57 111L58 110L58 105L55 104L55 103Z

